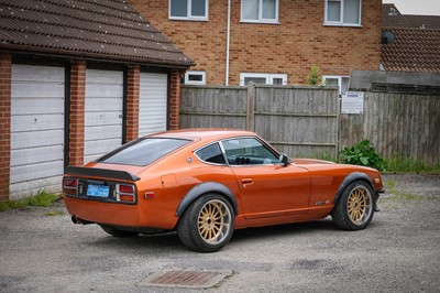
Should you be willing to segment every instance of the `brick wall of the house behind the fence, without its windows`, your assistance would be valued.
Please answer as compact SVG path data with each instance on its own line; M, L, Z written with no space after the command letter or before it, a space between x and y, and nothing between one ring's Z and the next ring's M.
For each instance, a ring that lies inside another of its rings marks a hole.
M227 0L209 1L209 21L168 20L167 0L130 0L151 23L206 70L207 83L224 85ZM323 75L375 70L381 56L381 0L362 1L362 28L324 26L323 0L279 0L280 24L240 23L240 0L231 0L230 85L240 73L287 74L304 84L310 67Z

